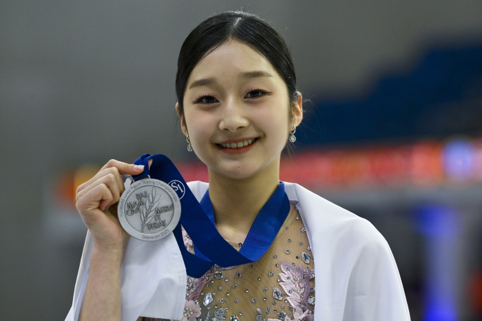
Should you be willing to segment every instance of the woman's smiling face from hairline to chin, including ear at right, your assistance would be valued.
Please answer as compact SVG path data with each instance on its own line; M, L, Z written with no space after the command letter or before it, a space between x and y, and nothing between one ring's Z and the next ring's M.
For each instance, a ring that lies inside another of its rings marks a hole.
M290 122L291 104L271 63L248 45L228 41L191 72L181 123L210 176L278 175L289 131L302 118L301 96Z

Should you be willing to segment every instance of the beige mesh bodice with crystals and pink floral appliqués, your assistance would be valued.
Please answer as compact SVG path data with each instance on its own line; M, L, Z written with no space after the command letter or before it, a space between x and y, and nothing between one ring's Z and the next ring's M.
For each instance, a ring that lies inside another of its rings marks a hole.
M193 251L190 243L185 234L185 244ZM238 250L241 247L230 244ZM257 262L224 269L215 265L199 279L187 277L182 320L310 321L315 308L314 276L304 225L292 208L273 244Z

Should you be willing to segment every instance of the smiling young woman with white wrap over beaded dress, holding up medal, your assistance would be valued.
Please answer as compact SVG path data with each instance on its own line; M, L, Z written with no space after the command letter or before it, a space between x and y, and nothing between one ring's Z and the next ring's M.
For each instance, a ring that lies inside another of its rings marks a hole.
M122 229L121 175L143 167L109 161L77 191L89 232L67 320L410 320L395 260L375 227L300 185L280 183L280 154L302 121L280 34L244 12L203 21L180 50L176 92L188 149L209 171L209 185L189 187L212 206L222 242L241 253L252 226L269 234L266 222L255 221L260 211L281 216L281 228L255 262L189 276L172 234L143 242ZM275 195L289 199L283 210L265 206ZM183 236L181 246L195 253Z

